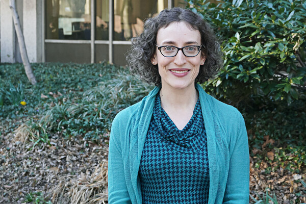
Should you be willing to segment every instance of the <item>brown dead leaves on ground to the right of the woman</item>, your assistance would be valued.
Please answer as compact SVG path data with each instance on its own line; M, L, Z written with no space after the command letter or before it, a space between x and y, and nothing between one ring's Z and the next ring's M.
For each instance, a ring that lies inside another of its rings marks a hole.
M267 157L267 160L265 158L260 160L257 156L250 157L250 195L259 200L268 191L271 197L275 193L278 203L306 202L306 188L300 182L306 179L306 172L292 173L289 169L279 166L278 162L274 161L275 150L268 148L275 141L268 135L264 137L264 140L262 149L251 150L252 155L263 155ZM283 164L286 167L290 162L283 161Z

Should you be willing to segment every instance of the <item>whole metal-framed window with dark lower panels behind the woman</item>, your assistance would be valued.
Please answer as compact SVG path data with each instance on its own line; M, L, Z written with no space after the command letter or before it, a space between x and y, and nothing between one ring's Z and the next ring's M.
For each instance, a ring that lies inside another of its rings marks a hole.
M107 60L124 65L130 40L143 32L144 21L168 6L177 6L173 1L45 0L45 59L86 63Z

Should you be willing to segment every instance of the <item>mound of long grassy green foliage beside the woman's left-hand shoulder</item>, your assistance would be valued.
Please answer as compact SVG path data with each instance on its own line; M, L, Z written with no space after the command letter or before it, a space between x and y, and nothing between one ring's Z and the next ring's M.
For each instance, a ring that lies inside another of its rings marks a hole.
M116 78L105 79L86 90L79 103L64 103L47 110L41 119L43 126L68 137L103 137L110 131L112 120L120 110L137 103L152 89L125 70L117 70L114 74Z

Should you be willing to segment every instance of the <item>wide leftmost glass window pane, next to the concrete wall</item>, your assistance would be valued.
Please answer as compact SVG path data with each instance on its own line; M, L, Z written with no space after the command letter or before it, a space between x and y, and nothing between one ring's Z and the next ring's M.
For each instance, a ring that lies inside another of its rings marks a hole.
M90 0L47 0L46 39L90 40Z

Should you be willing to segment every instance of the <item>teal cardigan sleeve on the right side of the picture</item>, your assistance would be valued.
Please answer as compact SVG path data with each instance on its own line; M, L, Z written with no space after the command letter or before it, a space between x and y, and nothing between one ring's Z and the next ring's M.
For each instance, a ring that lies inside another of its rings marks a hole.
M237 124L237 123L238 124ZM229 144L230 166L226 182L223 203L249 203L249 150L244 119L237 111L237 119L233 124L231 142ZM236 131L235 131L236 129Z

